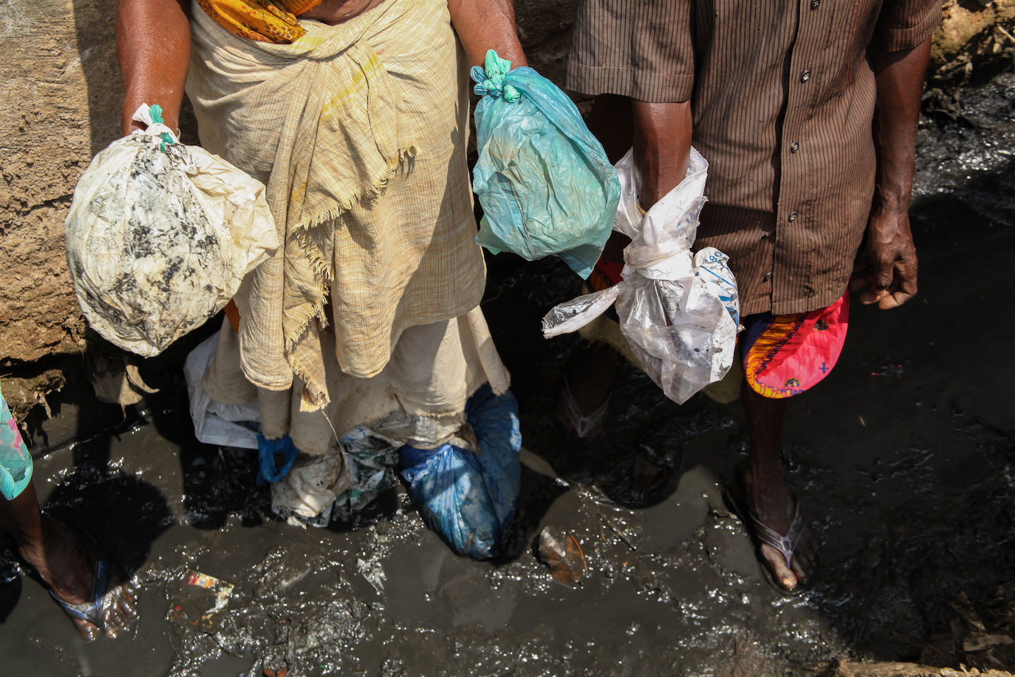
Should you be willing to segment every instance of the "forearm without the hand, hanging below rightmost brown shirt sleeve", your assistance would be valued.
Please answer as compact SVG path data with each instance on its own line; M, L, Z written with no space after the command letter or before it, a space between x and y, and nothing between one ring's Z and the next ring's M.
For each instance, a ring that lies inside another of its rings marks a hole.
M875 211L909 208L917 124L930 54L930 39L911 50L871 50L878 88L872 130L877 152Z

